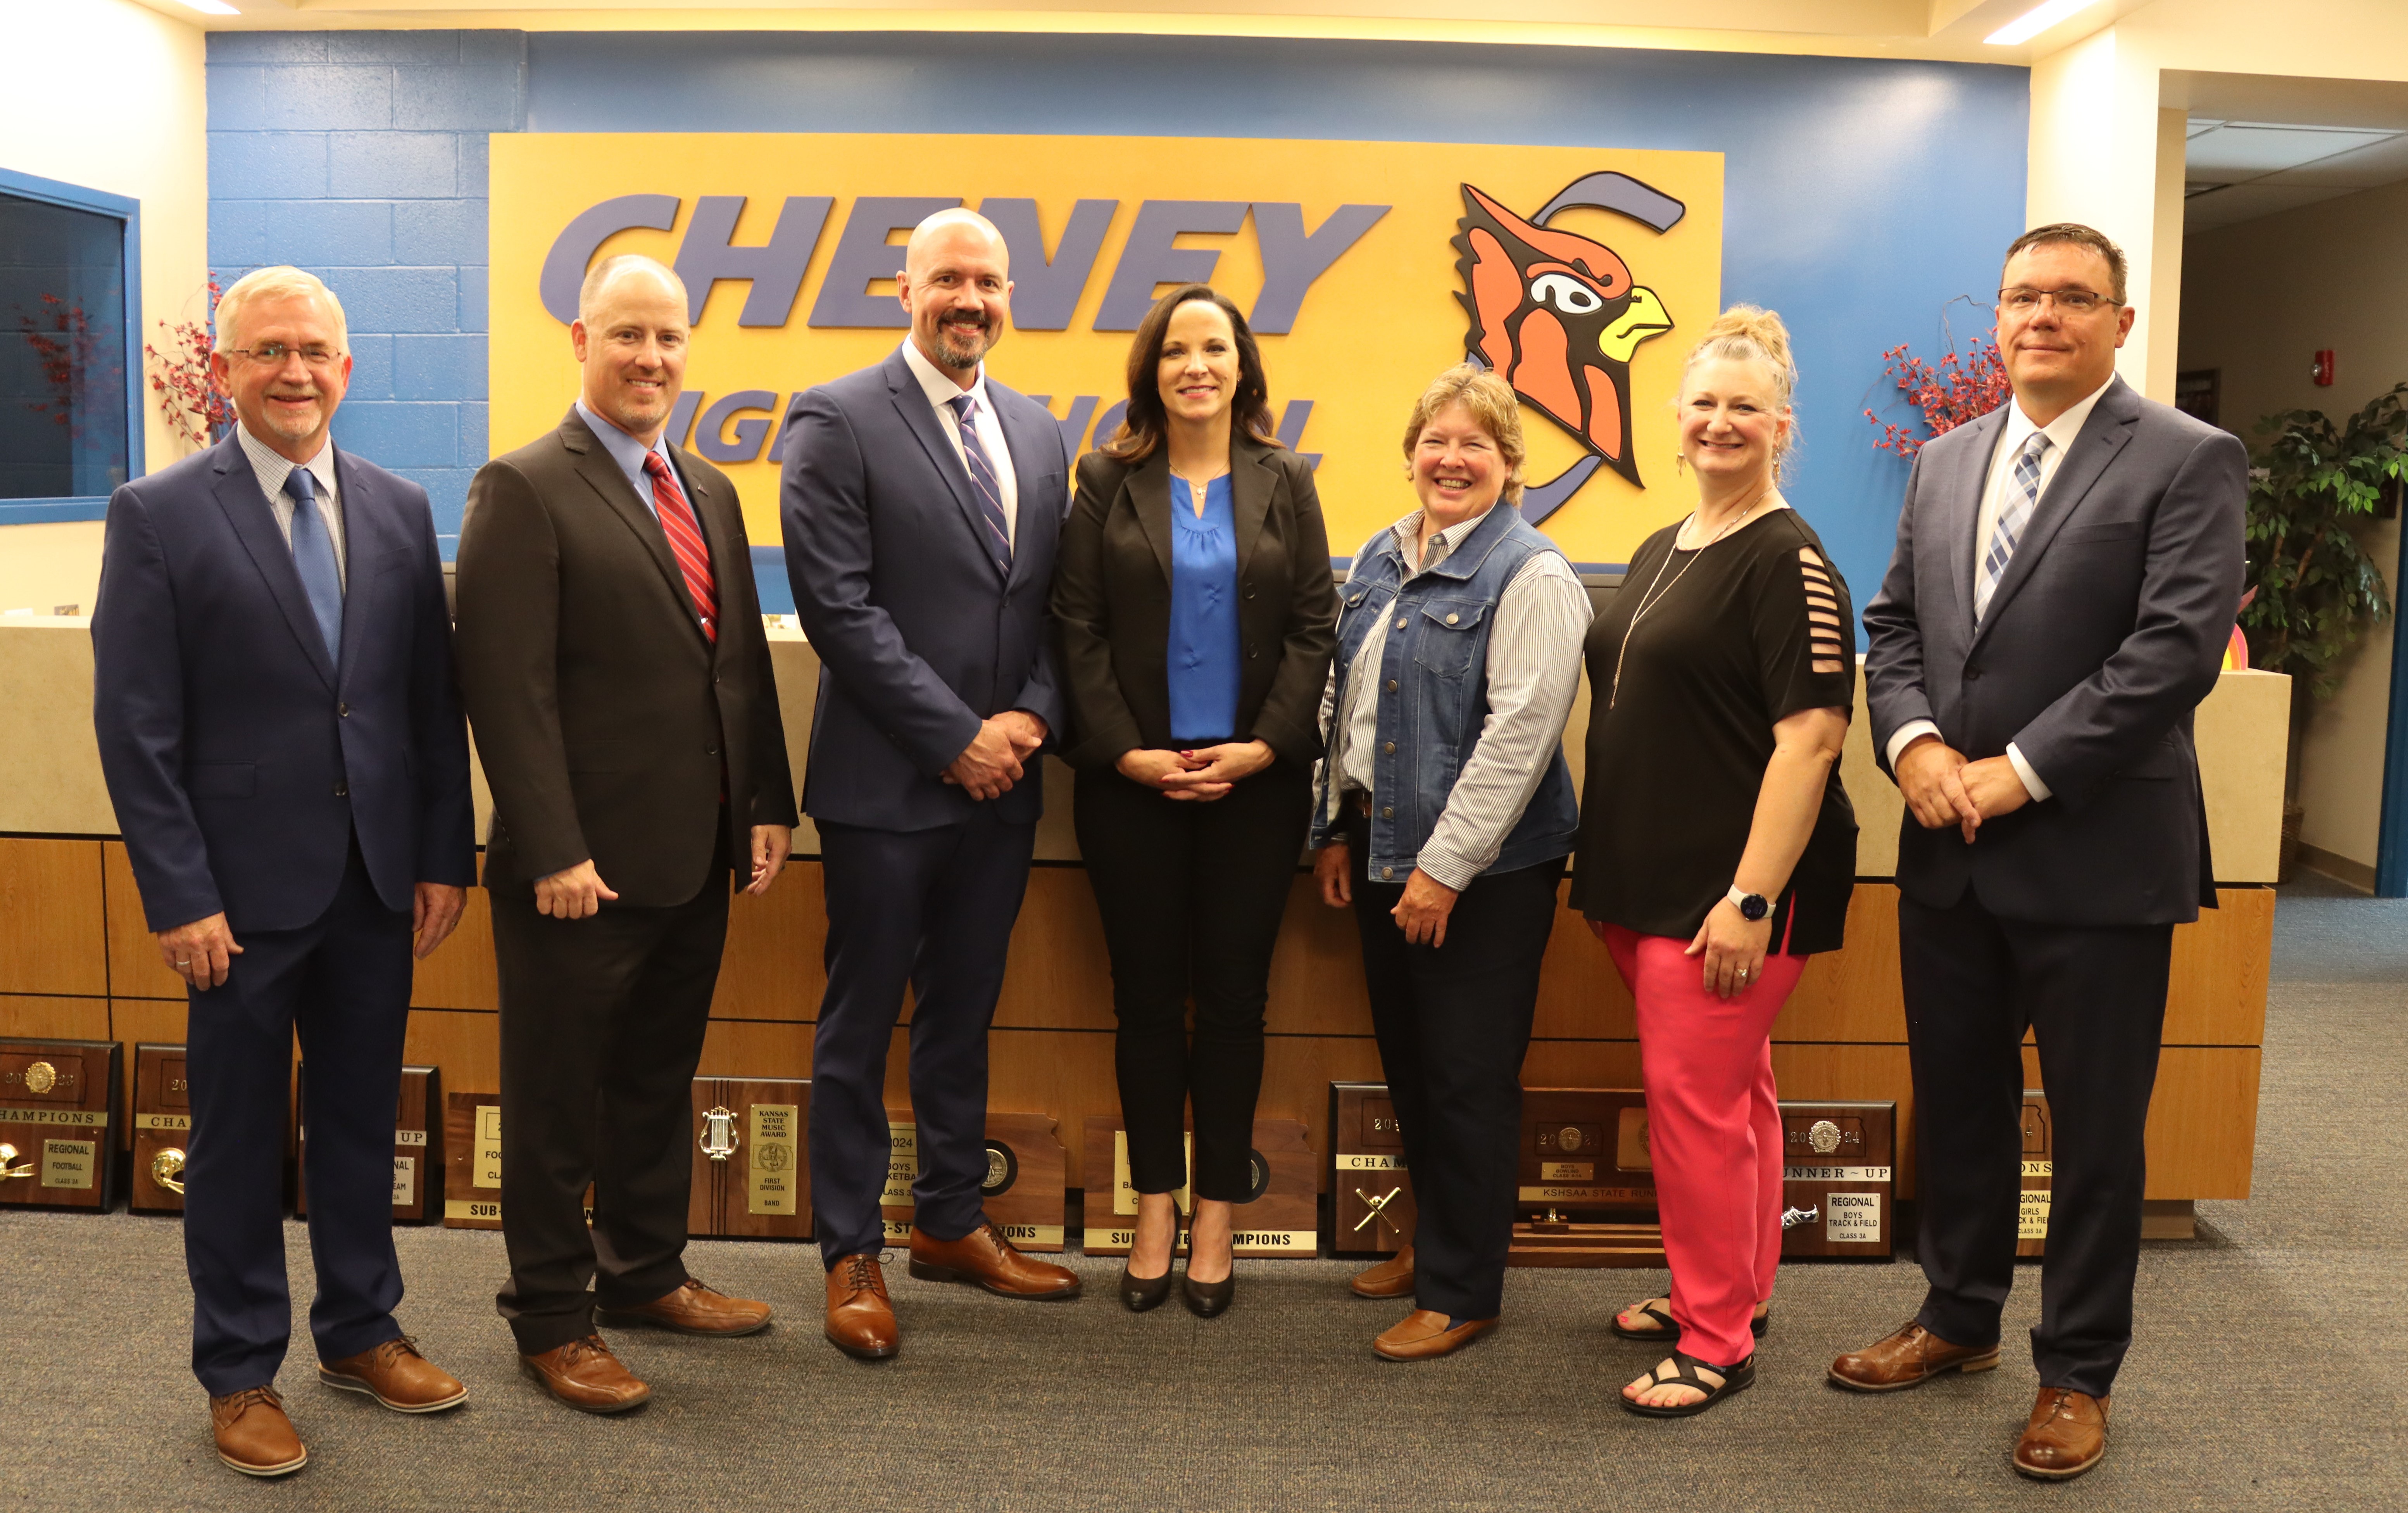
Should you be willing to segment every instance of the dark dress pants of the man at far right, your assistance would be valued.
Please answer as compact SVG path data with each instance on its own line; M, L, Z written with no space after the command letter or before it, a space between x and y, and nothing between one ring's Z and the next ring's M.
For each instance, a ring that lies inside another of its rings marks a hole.
M2032 925L1898 901L1914 1152L1931 1291L1917 1320L1991 1344L2015 1284L2023 1031L2040 1048L2054 1173L2040 1265L2040 1385L2105 1397L2131 1349L2143 1130L2158 1084L2172 925Z

